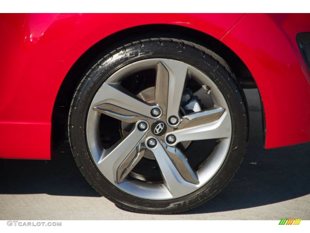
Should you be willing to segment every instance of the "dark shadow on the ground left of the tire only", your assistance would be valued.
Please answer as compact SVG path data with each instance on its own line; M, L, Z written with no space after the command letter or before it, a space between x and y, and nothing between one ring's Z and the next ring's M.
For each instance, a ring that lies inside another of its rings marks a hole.
M100 197L79 171L69 143L61 145L49 161L0 160L0 175L0 194Z

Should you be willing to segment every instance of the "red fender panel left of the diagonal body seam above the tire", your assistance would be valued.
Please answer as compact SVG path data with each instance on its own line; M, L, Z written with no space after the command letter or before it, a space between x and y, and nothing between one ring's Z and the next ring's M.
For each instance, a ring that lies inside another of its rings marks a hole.
M174 24L220 39L242 14L0 14L0 158L51 158L51 117L74 62L117 31Z

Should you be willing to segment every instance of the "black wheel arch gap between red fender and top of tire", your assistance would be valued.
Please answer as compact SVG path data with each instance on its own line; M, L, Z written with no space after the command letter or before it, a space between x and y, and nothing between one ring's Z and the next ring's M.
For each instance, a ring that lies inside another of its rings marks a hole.
M242 88L256 88L255 80L249 69L237 54L209 34L189 27L169 24L150 24L127 28L113 33L91 46L78 58L64 77L55 99L52 114L52 142L55 147L67 139L67 120L71 99L83 73L85 74L94 65L92 62L97 57L123 44L154 37L172 37L201 44L217 53L228 63Z

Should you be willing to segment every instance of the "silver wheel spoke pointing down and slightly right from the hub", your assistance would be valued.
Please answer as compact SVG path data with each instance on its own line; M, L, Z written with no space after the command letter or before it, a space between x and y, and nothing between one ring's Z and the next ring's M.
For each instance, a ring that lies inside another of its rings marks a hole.
M198 182L198 178L193 172L193 170L190 168L188 162L186 161L186 158L182 157L183 154L181 155L179 153L180 151L176 151L175 153L173 152L174 148L171 148L170 150L170 148L168 149L168 147L164 147L158 143L157 146L152 149L152 152L160 167L165 186L169 190L171 195L185 195L196 190L197 186L195 184L188 182L183 178L183 176L187 178L189 176L192 176L192 178L190 179L197 180ZM177 167L175 166L175 163L173 161L178 164ZM181 175L179 170L182 172L183 176Z

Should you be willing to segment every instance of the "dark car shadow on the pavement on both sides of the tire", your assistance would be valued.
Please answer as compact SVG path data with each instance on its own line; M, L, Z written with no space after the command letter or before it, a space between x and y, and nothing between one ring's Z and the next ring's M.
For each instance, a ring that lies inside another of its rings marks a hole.
M251 208L310 193L310 143L265 150L260 107L249 106L249 145L237 174L215 198L184 214ZM1 159L0 176L0 194L100 197L78 170L68 143L47 162Z

